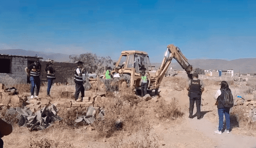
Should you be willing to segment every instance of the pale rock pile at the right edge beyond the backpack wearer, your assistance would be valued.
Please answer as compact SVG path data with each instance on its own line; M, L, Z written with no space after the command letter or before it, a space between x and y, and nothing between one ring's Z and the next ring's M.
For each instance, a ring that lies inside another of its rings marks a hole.
M234 100L234 106L243 105L246 109L244 116L249 118L249 122L256 122L256 97L254 94L247 94Z

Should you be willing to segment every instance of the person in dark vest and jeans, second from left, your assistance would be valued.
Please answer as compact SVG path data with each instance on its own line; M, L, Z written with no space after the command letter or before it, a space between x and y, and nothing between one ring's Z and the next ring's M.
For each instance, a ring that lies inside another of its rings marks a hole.
M56 79L55 70L52 68L52 62L49 62L46 64L45 71L47 72L47 81L48 81L47 97L50 97L50 89L52 87L53 80Z

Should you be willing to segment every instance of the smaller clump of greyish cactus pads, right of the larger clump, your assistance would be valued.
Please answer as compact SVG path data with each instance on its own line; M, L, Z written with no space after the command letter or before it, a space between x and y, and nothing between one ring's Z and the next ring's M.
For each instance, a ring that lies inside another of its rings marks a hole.
M95 118L94 118L95 113L96 113L96 110L94 109L94 107L90 106L87 109L86 115L85 116L84 115L83 116L79 116L75 120L75 122L78 123L78 122L85 121L88 124L92 124L95 121ZM100 113L97 115L97 118L104 119L104 113L105 113L104 109L101 108L100 109Z

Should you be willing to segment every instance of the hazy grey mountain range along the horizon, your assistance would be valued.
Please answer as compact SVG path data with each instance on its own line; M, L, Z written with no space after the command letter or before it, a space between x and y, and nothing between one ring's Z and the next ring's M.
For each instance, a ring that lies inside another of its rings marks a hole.
M27 55L27 56L38 56L46 59L53 59L57 62L68 62L70 61L69 55L62 53L46 53L40 51L27 51L23 49L6 49L0 50L0 54L9 54L9 55ZM162 60L162 59L161 59ZM223 59L192 59L188 60L190 65L194 68L200 69L216 69L216 70L228 70L233 69L235 73L256 73L256 58L245 58L245 59L234 59L231 61ZM160 67L161 63L151 63L156 68ZM182 67L175 61L172 60L170 67L173 69L181 70Z

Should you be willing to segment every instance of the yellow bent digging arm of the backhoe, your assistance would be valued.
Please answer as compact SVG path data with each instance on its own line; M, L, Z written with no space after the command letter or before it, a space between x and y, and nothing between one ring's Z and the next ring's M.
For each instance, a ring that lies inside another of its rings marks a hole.
M172 44L167 46L167 50L164 54L164 59L162 61L160 69L158 69L156 73L156 88L159 87L164 75L172 61L172 58L176 59L176 61L180 64L180 66L185 69L185 71L190 74L193 70L192 65L188 63L188 59L182 54L180 49Z

